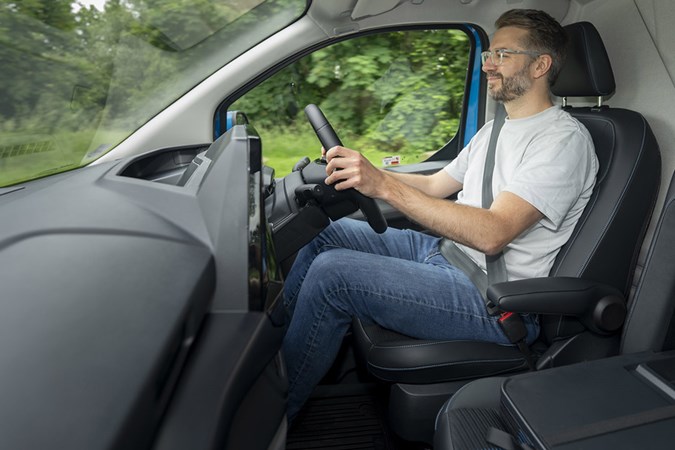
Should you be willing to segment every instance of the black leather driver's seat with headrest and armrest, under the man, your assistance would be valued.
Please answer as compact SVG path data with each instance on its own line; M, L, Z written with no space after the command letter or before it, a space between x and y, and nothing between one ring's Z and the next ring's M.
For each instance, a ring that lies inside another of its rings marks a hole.
M565 28L570 51L553 93L565 99L611 95L614 76L595 27L581 22ZM541 314L542 333L533 345L539 369L617 353L625 317L617 299L630 289L660 180L658 144L642 115L604 105L566 108L593 137L600 163L593 196L556 258L555 279L490 289L503 310ZM588 289L579 279L607 288L578 296ZM429 442L438 407L468 381L527 370L516 347L418 340L358 319L353 325L357 354L369 372L393 383L390 419L405 439Z

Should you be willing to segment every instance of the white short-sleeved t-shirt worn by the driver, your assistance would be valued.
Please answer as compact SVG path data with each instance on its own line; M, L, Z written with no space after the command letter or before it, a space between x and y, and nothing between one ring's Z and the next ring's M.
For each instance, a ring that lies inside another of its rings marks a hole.
M482 207L483 168L493 122L488 122L444 170L462 183L457 203ZM548 276L595 185L598 160L588 130L559 106L506 119L499 134L493 198L511 192L544 217L503 250L509 280ZM485 255L457 244L485 270Z

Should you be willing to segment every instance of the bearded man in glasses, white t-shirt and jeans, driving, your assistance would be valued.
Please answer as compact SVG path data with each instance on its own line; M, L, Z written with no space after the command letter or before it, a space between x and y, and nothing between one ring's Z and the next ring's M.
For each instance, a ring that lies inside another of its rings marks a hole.
M489 209L481 196L492 122L430 176L386 172L354 150L331 148L326 183L386 201L457 243L483 270L485 255L501 251L510 280L547 276L591 195L597 159L588 131L551 100L567 43L560 24L541 11L511 10L495 25L483 71L508 116ZM456 202L446 200L454 193ZM284 287L292 314L283 344L289 419L332 365L353 316L417 338L509 343L440 242L411 230L377 235L363 222L340 220L299 252ZM531 342L538 323L524 321Z

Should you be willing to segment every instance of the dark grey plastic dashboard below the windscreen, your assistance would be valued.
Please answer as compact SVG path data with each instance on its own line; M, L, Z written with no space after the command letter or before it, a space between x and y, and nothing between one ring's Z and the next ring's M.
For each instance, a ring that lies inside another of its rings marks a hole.
M237 410L260 383L276 430L281 277L252 127L3 191L0 217L0 447L226 444L259 426Z

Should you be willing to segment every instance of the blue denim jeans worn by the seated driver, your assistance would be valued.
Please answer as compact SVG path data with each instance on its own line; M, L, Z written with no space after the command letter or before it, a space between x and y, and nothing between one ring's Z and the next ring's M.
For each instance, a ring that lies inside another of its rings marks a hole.
M354 316L420 339L509 343L439 243L417 231L377 234L365 222L342 219L300 250L284 284L289 419L333 364ZM525 323L532 341L538 325Z

